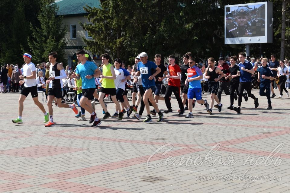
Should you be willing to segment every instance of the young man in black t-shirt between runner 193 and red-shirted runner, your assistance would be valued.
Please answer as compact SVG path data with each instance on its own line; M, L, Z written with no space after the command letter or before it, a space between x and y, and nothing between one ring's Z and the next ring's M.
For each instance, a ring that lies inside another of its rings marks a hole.
M166 78L166 74L168 74L167 72L167 68L161 64L161 55L160 54L156 54L154 57L155 63L158 66L158 68L161 69L161 71L155 76L155 90L154 90L154 100L156 102L156 104L158 105L158 100L164 100L164 97L160 96L161 93L161 89L162 89L162 84L163 84L163 79ZM156 72L156 70L154 70L154 73ZM164 75L165 74L165 75ZM152 111L150 111L151 115L156 115L156 111L155 109L153 109Z

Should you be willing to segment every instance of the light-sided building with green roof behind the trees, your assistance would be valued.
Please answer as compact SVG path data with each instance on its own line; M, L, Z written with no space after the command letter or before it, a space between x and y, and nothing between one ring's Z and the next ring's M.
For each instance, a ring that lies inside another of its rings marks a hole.
M99 7L100 2L98 0L61 0L56 2L56 4L59 5L57 15L63 16L63 25L66 26L67 29L65 36L67 45L64 57L67 58L68 65L75 68L76 64L73 60L76 60L76 51L78 49L84 49L86 46L82 37L92 39L79 24L79 21L82 24L89 22L84 17L85 15L88 15L84 10L84 7L86 5L89 5L90 7ZM85 51L89 53L90 58L94 59L92 61L96 63L101 62L101 60L95 57L91 52L88 50Z

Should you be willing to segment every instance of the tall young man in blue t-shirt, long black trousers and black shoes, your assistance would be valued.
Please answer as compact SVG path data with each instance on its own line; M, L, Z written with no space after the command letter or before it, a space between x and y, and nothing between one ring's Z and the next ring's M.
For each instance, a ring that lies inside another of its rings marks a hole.
M239 97L238 97L238 106L234 107L234 110L237 113L241 113L241 104L242 97L245 95L243 93L244 90L247 91L248 96L254 99L255 108L259 106L258 98L256 98L252 93L252 73L254 73L253 65L250 62L245 61L246 54L244 52L239 53L239 74L240 74L240 84L239 84ZM245 97L245 101L248 100L248 97Z

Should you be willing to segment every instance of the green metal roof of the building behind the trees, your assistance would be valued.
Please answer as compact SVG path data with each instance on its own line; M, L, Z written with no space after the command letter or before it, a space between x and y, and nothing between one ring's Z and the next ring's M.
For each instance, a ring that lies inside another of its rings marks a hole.
M57 15L76 15L76 14L87 14L84 8L85 5L90 7L100 7L98 0L62 0L56 2L60 6Z

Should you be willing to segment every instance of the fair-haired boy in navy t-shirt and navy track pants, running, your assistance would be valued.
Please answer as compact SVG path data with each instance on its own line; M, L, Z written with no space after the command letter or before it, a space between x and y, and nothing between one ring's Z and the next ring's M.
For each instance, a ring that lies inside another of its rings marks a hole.
M267 65L267 58L261 59L262 67L258 68L258 82L260 82L260 96L267 96L268 107L267 110L272 109L271 105L271 79L273 79L273 73ZM265 93L266 89L266 93Z

